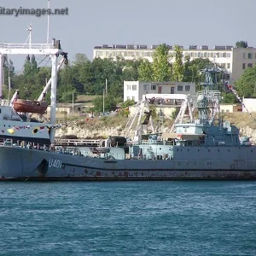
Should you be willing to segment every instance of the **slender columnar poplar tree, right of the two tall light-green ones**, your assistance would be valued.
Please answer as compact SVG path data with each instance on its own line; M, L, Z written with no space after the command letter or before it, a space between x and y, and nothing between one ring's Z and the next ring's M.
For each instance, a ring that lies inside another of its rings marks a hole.
M172 65L172 76L174 81L183 81L184 67L183 67L183 49L178 45L174 46L175 61Z

